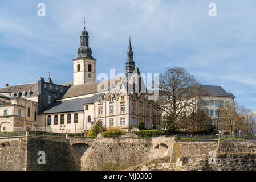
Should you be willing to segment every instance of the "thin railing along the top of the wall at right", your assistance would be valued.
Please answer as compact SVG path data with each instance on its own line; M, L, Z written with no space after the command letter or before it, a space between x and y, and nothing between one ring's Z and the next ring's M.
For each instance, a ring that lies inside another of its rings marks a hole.
M242 139L256 139L256 137L250 137L250 136L233 136L230 137L229 135L190 135L190 134L176 134L175 139L227 139L227 140L242 140Z

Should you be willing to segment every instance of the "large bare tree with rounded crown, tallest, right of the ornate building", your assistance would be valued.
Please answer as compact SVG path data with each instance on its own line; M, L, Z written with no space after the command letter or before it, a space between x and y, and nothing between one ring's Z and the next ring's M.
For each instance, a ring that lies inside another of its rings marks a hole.
M167 68L159 77L160 96L153 106L164 111L176 123L179 115L197 103L200 84L184 68Z

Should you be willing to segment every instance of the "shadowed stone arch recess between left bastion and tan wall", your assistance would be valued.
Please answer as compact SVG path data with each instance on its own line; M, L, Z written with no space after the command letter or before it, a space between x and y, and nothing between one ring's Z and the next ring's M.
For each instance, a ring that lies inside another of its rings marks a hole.
M74 143L70 146L70 148L73 158L75 160L76 170L80 171L82 169L82 156L88 150L88 148L90 148L90 145L85 142Z

